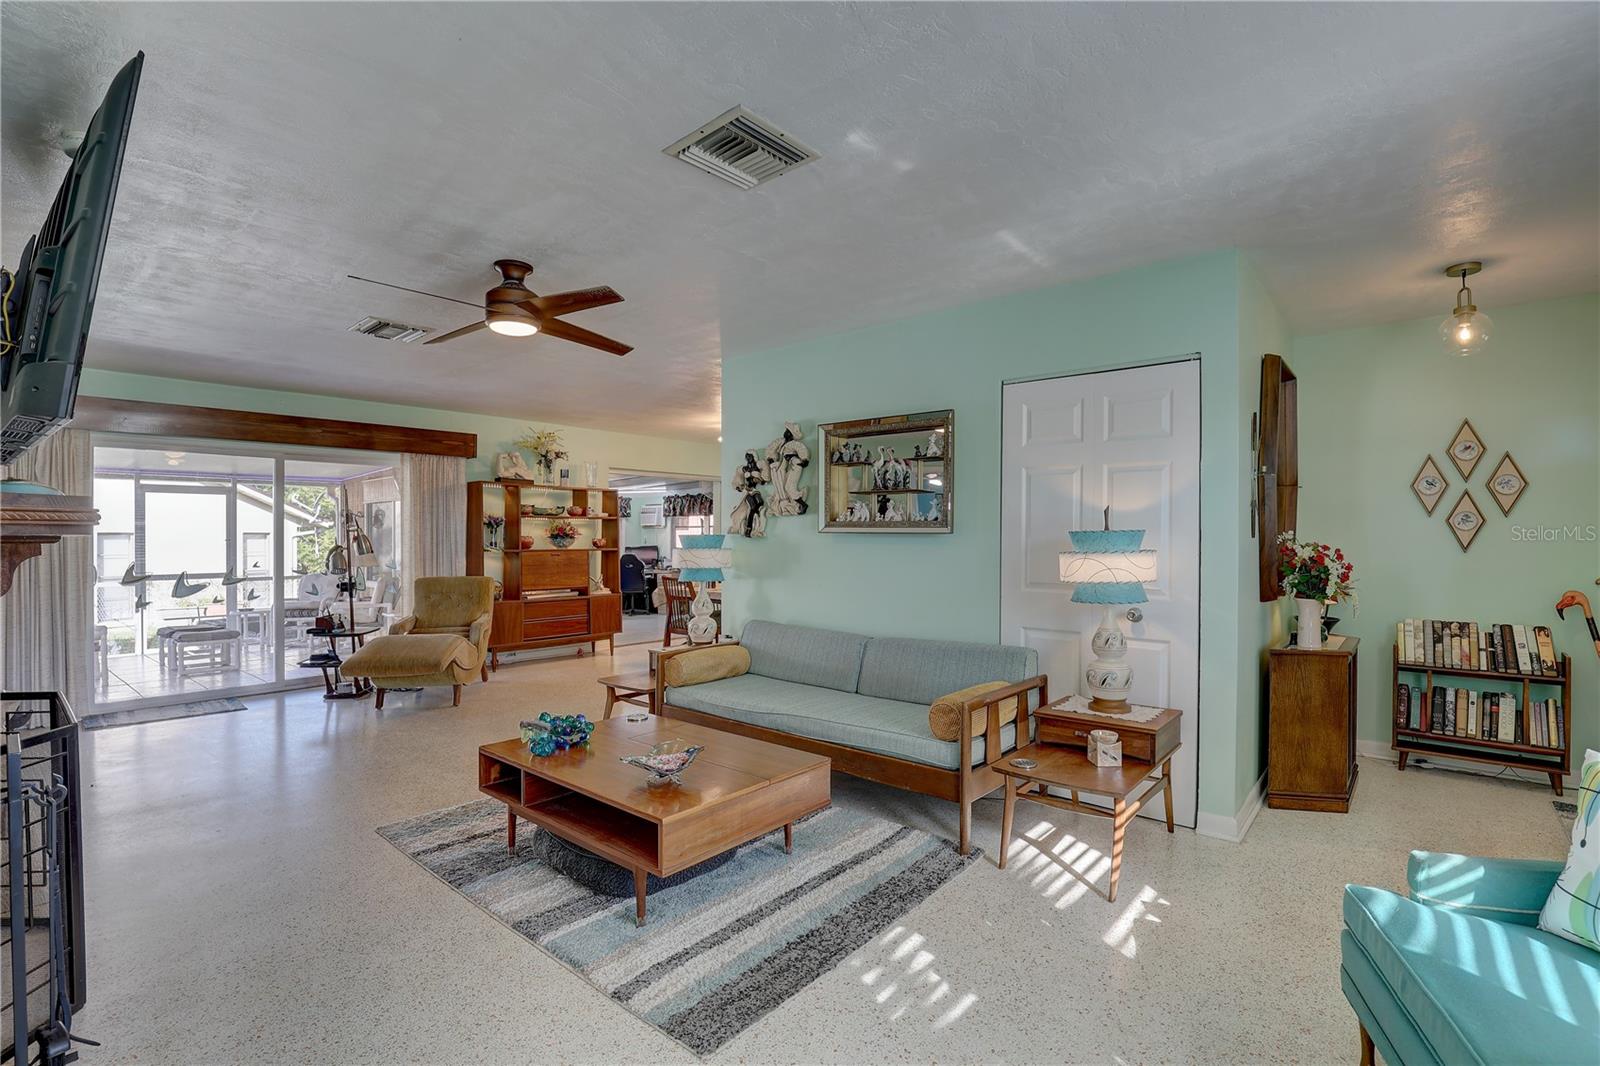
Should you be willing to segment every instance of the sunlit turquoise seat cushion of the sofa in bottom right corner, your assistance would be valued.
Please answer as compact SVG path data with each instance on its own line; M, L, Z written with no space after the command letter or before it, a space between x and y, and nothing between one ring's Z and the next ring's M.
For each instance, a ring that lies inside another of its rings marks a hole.
M1344 924L1440 1061L1595 1061L1594 951L1365 885L1346 887Z

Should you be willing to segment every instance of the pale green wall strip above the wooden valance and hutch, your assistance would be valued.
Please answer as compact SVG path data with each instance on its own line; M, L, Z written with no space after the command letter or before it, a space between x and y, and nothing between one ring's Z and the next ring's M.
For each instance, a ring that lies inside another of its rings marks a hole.
M93 362L93 357L91 360ZM526 427L558 429L571 453L576 479L582 479L582 463L600 464L600 480L605 482L610 467L662 471L672 474L714 474L718 467L718 447L714 442L669 440L640 434L621 434L605 429L584 429L536 419L493 418L467 411L446 411L429 407L400 403L373 403L368 400L341 400L307 392L278 392L272 389L245 389L238 386L126 375L110 370L85 370L80 386L83 395L106 395L123 400L149 400L154 403L186 403L190 407L224 407L240 411L270 411L275 415L302 415L307 418L344 418L360 423L384 423L413 426L418 429L445 429L478 435L478 458L467 461L467 479L494 477L494 455L510 451L510 442L522 437Z

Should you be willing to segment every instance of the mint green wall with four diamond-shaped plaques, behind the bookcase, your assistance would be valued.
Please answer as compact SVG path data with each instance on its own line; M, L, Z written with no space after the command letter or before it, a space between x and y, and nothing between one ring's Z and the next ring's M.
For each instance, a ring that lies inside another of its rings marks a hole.
M1581 757L1586 746L1600 747L1600 669L1582 619L1568 611L1558 621L1552 607L1563 589L1600 600L1600 296L1496 307L1480 287L1496 333L1491 349L1467 359L1438 347L1448 298L1427 319L1294 339L1299 531L1357 563L1360 615L1341 631L1362 637L1362 739L1384 747L1390 739L1398 619L1542 623L1573 656ZM1470 483L1445 455L1462 418L1486 445ZM1528 477L1509 517L1483 487L1507 450ZM1432 517L1411 495L1429 455L1450 479ZM1445 525L1462 488L1488 519L1469 552ZM1517 538L1533 527L1581 535Z

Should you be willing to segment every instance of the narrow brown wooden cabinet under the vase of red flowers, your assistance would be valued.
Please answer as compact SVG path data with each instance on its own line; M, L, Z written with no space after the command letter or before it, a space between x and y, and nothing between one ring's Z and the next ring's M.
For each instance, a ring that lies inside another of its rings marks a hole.
M1317 651L1267 651L1267 807L1350 810L1358 643L1330 637Z

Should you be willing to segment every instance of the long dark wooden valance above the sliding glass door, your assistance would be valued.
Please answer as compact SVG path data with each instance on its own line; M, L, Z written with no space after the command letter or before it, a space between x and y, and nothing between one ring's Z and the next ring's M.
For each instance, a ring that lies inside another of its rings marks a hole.
M411 451L414 455L450 455L462 459L472 459L478 455L477 434L347 423L336 418L229 411L219 407L144 403L101 395L78 397L72 427L157 437L355 448L360 451Z

